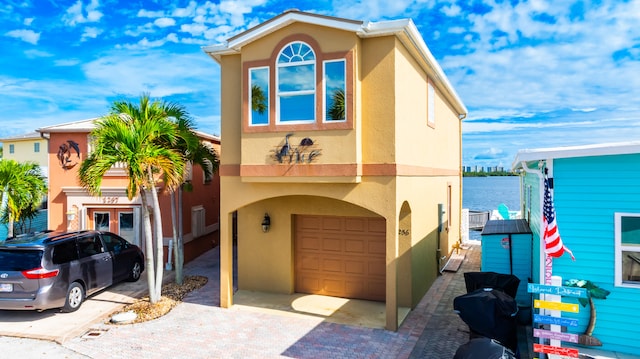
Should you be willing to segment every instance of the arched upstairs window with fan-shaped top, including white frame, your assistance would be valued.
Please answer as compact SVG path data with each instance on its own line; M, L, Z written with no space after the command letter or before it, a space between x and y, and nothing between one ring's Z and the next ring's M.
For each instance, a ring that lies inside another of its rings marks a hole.
M316 55L309 45L285 45L276 61L276 111L279 123L316 119Z

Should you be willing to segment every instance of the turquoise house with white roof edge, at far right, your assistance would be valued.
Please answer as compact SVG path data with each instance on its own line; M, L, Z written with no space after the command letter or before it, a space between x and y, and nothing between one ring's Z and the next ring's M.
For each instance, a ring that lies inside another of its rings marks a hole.
M610 291L606 299L594 299L593 337L602 342L597 349L640 353L640 142L522 150L512 168L521 172L521 210L533 234L533 282L544 282L546 172L561 239L576 258L553 259L553 275L589 280ZM569 332L583 333L589 306L563 316L579 319Z

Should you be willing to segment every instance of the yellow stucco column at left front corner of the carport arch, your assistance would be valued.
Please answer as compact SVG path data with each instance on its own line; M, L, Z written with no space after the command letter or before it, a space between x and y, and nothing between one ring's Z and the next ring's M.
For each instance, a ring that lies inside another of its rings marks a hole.
M233 214L220 220L220 307L233 305Z

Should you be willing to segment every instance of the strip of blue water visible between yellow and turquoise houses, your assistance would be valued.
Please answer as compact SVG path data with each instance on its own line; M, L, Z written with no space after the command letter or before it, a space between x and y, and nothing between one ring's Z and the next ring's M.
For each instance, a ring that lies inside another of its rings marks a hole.
M512 211L520 209L520 177L489 176L462 179L462 208L493 211L504 203ZM480 231L469 231L469 239L479 240Z

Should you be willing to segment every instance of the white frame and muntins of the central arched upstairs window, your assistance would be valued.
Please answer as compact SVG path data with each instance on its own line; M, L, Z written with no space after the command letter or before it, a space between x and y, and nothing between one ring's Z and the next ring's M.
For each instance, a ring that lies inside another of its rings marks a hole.
M309 48L309 50L312 52L313 54L313 60L306 60L306 61L295 61L295 62L286 62L286 63L280 63L280 57L283 55L283 52L285 49L289 48L290 46L292 46L293 44L302 44L306 47ZM317 76L317 56L315 51L313 50L313 48L307 44L304 41L292 41L286 45L284 45L282 47L282 49L280 49L280 52L278 53L278 56L276 57L276 81L275 81L275 94L276 94L276 123L279 125L299 125L299 124L308 124L308 123L314 123L316 122L316 106L318 103L318 95L317 95L317 84L316 84L316 76ZM287 67L293 67L293 66L306 66L306 65L313 65L313 89L310 90L300 90L300 91L283 91L280 92L280 69L282 68L287 68ZM280 120L280 99L283 96L302 96L302 95L313 95L313 118L312 119L306 119L306 120L299 120L299 121L281 121Z

